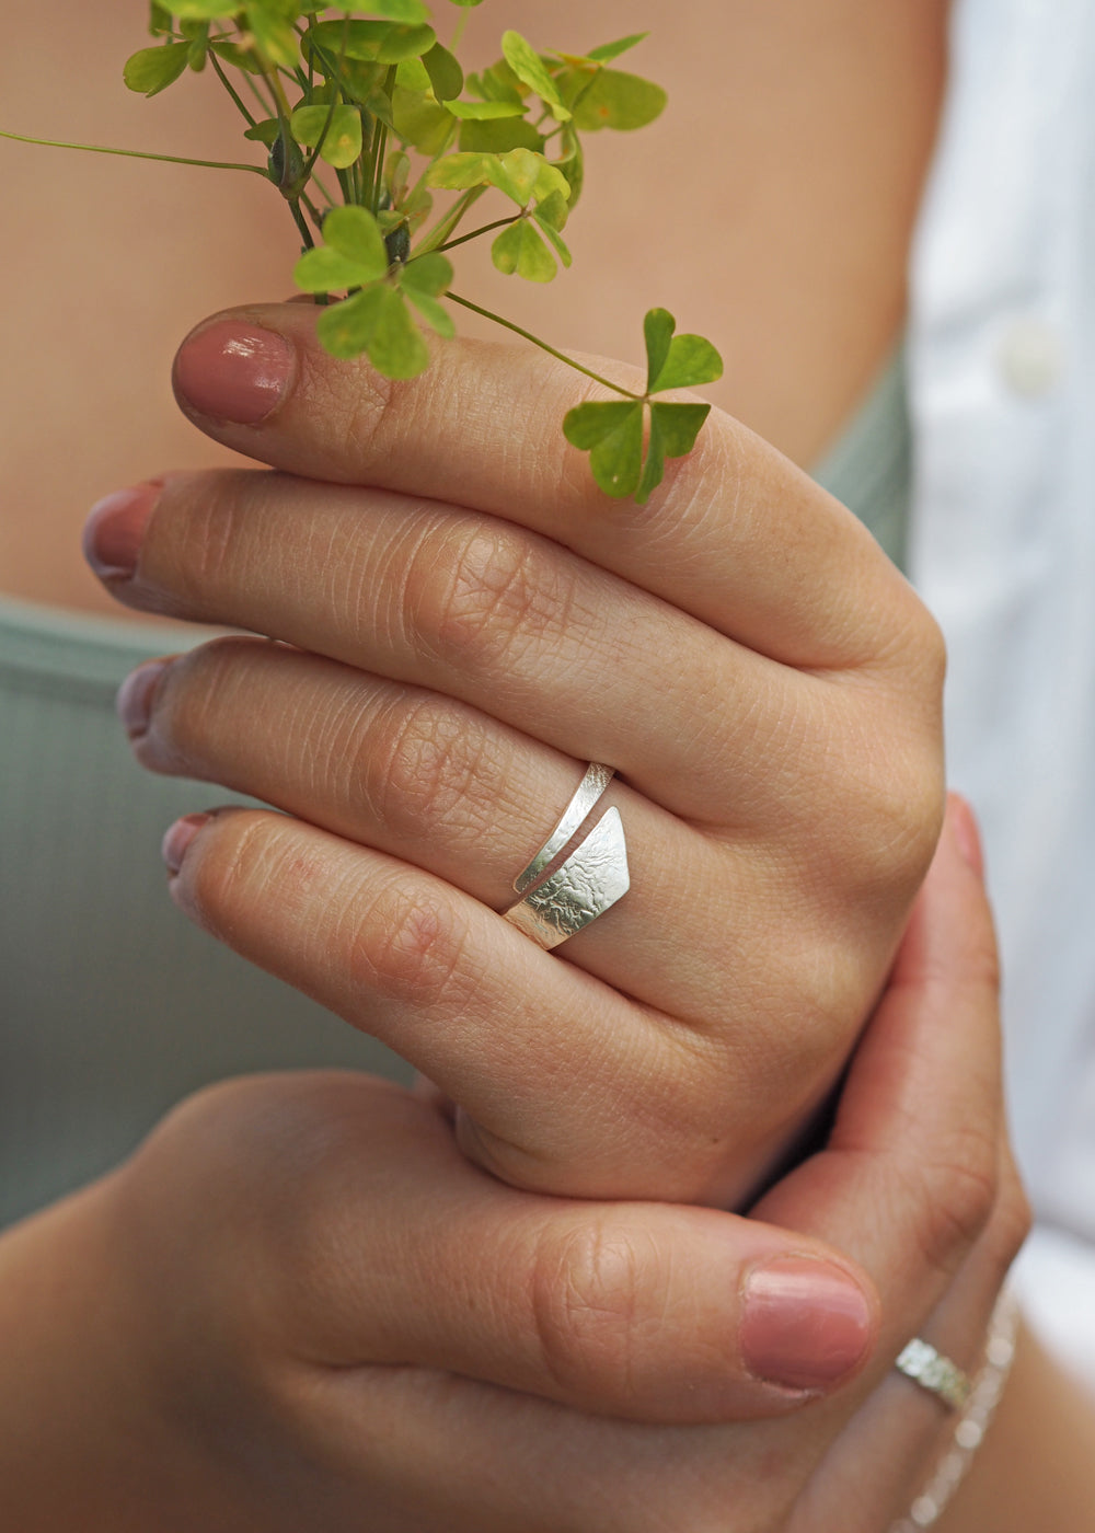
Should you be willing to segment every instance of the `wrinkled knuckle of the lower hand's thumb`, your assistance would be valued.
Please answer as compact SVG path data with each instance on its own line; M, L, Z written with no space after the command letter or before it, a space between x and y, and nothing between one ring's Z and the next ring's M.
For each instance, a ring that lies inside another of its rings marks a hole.
M604 1401L635 1397L643 1332L664 1318L656 1314L650 1268L650 1251L638 1249L636 1233L607 1214L541 1234L532 1318L558 1384Z

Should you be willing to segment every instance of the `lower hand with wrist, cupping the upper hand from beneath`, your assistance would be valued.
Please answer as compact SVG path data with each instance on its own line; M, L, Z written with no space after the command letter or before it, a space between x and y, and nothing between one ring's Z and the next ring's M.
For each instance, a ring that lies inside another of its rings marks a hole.
M831 1144L755 1217L514 1190L367 1076L207 1090L0 1242L2 1521L880 1533L943 1420L891 1361L972 1366L1024 1231L997 1046L951 831Z

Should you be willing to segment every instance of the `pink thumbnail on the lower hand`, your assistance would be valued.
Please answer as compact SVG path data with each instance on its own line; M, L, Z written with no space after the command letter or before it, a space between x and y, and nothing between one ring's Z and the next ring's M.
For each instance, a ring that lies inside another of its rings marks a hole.
M837 1266L779 1257L745 1283L741 1354L755 1378L785 1389L831 1389L871 1341L871 1306Z

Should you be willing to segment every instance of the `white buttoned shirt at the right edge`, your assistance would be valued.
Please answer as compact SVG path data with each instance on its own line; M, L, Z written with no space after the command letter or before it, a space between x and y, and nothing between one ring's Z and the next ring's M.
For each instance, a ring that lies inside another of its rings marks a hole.
M916 239L911 570L982 820L1028 1312L1095 1380L1095 5L957 0Z

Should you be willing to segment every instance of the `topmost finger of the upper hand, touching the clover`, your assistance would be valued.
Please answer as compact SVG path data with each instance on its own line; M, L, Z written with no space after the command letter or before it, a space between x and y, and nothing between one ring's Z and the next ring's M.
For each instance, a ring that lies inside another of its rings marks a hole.
M790 665L843 667L922 635L920 604L870 535L718 411L647 509L609 503L563 442L563 414L589 386L561 363L455 342L423 377L391 383L363 359L333 360L314 327L314 313L276 305L199 327L175 366L182 408L293 474L442 500L455 487L462 504L544 532Z

